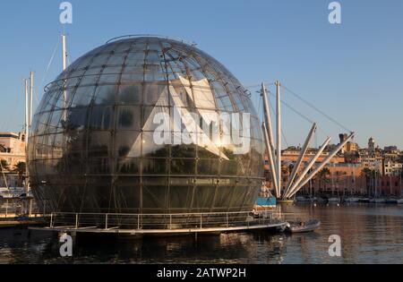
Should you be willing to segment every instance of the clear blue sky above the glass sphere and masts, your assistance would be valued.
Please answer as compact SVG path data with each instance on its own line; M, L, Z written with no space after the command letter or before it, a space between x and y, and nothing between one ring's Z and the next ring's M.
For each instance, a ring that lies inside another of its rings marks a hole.
M330 0L71 0L73 24L59 21L58 0L0 4L0 131L24 123L24 78L35 73L34 106L61 72L60 34L68 34L69 61L127 34L159 34L193 41L250 87L262 112L262 81L289 90L356 132L366 147L403 149L403 1L344 0L341 23L330 24ZM56 51L55 51L56 50ZM50 64L50 59L55 58ZM274 91L270 86L270 90ZM339 142L346 132L287 91L287 105ZM283 145L304 143L311 124L283 107Z

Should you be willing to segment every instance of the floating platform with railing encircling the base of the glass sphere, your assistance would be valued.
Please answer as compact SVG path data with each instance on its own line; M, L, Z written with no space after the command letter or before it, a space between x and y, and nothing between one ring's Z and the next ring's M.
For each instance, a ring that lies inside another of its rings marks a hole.
M72 223L72 225L64 223ZM83 214L52 213L50 225L30 227L58 233L94 235L197 235L283 230L287 222L274 212L199 214Z

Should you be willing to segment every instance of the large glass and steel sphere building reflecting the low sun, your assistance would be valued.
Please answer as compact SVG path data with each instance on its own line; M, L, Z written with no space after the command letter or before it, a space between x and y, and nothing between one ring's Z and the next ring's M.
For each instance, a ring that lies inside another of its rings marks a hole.
M235 145L209 138L159 145L154 117L169 116L174 138L174 108L197 114L194 128L209 137L204 125L217 116L250 113L250 128L238 122L250 146L237 154ZM30 140L32 190L53 211L250 210L263 180L259 124L247 91L201 50L167 38L111 41L47 87Z

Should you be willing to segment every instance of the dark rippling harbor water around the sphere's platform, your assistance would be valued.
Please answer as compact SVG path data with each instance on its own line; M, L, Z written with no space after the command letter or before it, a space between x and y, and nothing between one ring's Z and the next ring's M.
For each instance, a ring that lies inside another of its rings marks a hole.
M0 229L0 263L402 263L403 206L372 204L280 206L282 212L318 218L315 233L265 232L210 236L78 238L73 258L61 258L55 235L24 228ZM329 254L330 235L341 256Z

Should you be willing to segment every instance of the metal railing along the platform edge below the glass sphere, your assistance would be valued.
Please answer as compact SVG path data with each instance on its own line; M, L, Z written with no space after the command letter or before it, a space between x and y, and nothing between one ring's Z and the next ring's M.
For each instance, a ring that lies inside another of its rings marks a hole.
M73 229L203 229L215 227L262 226L284 222L276 212L208 212L176 214L130 214L130 213L69 213L50 214L50 228Z

